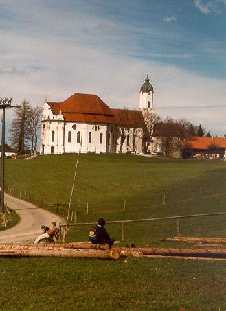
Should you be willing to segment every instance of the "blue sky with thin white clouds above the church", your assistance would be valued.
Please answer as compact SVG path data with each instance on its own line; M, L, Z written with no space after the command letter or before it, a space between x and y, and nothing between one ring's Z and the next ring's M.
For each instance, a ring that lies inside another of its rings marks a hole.
M1 97L137 108L148 71L159 115L224 135L225 13L226 0L0 0Z

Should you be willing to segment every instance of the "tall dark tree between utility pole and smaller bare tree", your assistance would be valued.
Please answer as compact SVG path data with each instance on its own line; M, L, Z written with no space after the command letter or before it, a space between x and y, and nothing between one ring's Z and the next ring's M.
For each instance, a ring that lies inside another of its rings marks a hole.
M23 102L21 102L20 108L15 111L15 117L12 120L10 128L11 146L16 149L18 154L24 154L25 150L28 148L30 139L30 117L30 102L24 99Z

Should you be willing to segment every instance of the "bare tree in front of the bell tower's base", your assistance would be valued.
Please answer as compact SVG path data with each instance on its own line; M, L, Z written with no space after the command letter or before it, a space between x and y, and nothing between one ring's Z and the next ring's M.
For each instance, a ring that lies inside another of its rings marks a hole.
M146 128L144 128L144 153L148 152L148 146L152 142L153 132L155 124L161 122L161 117L150 111L150 109L143 109L142 115L144 117L144 123Z

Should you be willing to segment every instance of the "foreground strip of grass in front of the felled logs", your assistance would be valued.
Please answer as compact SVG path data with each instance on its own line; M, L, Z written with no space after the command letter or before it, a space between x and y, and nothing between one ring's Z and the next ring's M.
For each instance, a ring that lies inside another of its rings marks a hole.
M0 259L1 310L226 310L225 262Z

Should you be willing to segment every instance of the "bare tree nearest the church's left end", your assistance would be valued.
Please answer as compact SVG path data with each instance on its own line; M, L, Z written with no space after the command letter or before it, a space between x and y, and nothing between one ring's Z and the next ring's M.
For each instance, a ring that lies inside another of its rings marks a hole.
M31 108L30 125L29 125L31 154L33 153L33 151L35 154L37 152L38 130L41 128L42 113L43 109L40 106Z

